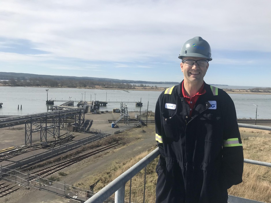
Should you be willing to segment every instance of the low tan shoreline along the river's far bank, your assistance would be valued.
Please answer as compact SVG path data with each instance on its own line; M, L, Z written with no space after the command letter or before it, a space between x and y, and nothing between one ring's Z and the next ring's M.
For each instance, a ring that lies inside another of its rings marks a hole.
M72 88L72 87L49 87L49 86L10 86L0 84L0 87L41 87L41 88ZM83 88L83 87L75 87L76 89L96 89L96 90L123 90L123 91L160 91L167 89L164 87L135 87L132 89L127 88L104 88L101 86L95 86L95 88ZM260 92L249 92L249 90L240 90L240 89L223 89L228 94L271 94L271 90L266 90L268 92L261 92L263 90L259 90Z

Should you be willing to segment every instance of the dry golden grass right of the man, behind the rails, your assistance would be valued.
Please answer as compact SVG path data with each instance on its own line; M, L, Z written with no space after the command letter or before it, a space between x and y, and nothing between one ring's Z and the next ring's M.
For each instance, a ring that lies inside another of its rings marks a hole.
M240 128L244 158L271 163L271 132ZM243 182L228 190L229 194L262 202L271 202L271 168L244 164Z

